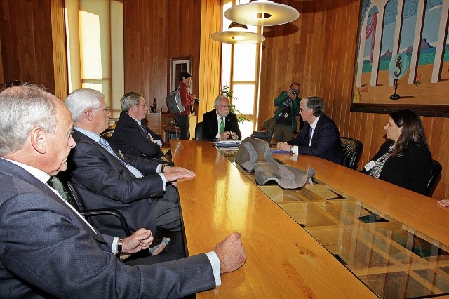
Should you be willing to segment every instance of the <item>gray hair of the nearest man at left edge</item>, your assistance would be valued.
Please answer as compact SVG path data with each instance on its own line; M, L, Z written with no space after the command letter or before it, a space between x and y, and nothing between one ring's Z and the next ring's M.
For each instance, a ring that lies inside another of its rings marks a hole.
M20 150L33 128L55 133L54 95L34 85L13 86L0 93L0 156Z

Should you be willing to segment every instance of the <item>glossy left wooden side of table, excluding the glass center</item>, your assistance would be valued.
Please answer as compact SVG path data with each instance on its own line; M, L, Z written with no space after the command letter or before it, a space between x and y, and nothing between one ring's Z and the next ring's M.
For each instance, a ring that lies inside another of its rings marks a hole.
M196 173L178 182L189 255L239 232L248 256L222 275L222 286L198 298L377 298L211 142L170 143L175 165Z

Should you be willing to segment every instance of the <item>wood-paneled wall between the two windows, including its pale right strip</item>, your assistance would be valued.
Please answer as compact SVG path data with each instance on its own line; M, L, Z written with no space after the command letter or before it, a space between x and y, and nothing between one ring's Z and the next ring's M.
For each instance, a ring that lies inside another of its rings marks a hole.
M220 44L209 35L221 27L215 0L124 1L125 91L166 105L170 58L192 56L192 91L203 105L220 86Z

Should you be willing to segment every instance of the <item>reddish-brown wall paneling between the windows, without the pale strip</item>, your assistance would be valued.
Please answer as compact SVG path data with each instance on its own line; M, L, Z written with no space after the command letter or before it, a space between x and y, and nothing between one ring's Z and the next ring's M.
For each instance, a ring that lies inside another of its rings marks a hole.
M201 1L124 1L125 92L166 105L170 58L192 56L193 91L199 89Z

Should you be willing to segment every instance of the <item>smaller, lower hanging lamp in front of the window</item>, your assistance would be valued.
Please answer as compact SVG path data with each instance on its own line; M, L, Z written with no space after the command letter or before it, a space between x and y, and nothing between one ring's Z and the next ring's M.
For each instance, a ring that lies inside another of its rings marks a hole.
M246 25L232 22L229 29L210 34L214 41L226 44L258 44L265 40L265 36L249 32Z

